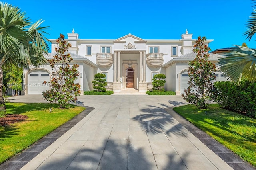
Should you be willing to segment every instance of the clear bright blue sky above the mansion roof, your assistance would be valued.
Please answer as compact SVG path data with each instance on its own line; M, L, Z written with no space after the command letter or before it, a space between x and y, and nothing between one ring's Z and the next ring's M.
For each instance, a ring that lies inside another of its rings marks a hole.
M6 0L33 22L50 26L48 39L67 37L74 28L80 39L118 39L128 33L142 39L214 39L212 50L233 44L256 48L243 35L253 9L251 0Z

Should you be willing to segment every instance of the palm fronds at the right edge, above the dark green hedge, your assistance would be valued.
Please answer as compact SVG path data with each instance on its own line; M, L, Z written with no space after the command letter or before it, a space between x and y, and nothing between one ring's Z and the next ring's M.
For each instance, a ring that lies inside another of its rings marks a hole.
M253 0L256 2L256 0ZM256 33L256 10L250 16L247 31L244 33L249 41ZM229 53L224 53L218 59L220 70L227 74L229 79L240 85L241 79L246 78L250 82L256 82L256 49L234 45Z

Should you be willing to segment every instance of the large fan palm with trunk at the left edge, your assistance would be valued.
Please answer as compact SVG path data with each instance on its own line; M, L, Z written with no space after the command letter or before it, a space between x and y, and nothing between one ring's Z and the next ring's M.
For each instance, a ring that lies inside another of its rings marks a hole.
M49 46L44 34L48 27L41 27L42 20L32 23L20 8L0 2L0 111L6 112L2 93L3 68L15 64L29 69L46 62Z

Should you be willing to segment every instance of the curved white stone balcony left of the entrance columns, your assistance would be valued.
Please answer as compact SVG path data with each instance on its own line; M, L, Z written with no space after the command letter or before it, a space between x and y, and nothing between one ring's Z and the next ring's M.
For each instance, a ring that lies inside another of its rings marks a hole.
M97 53L96 63L100 67L110 67L113 64L113 54L111 53Z

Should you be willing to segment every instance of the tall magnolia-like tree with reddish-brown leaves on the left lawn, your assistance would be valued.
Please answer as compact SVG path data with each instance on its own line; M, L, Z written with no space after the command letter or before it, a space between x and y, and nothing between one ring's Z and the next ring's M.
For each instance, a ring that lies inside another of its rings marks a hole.
M70 66L73 59L67 51L71 44L64 40L64 35L60 34L56 42L58 46L55 48L56 55L53 59L48 60L50 67L54 70L52 79L48 83L43 82L45 85L49 84L51 89L42 92L42 94L46 101L56 102L60 104L60 108L65 108L68 102L76 101L76 97L81 92L80 85L74 84L79 75L77 71L79 65Z

